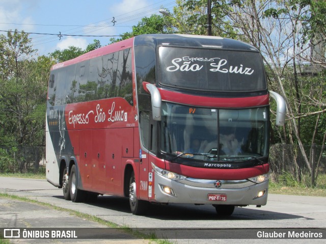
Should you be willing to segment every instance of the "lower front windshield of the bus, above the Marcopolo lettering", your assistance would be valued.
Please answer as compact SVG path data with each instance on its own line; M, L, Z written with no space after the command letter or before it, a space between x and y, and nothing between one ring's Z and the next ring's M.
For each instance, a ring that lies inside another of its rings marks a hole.
M214 109L162 103L163 153L196 160L268 155L268 108Z

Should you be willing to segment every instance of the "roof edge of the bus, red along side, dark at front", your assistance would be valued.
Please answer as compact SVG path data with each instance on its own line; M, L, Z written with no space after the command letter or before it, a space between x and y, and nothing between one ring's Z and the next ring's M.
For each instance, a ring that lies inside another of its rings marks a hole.
M75 59L65 61L63 63L55 64L51 70L66 67L72 64L80 63L92 58L96 58L108 53L129 48L132 46L148 45L156 47L157 45L171 45L180 47L204 47L204 48L218 48L224 50L242 50L255 51L258 49L248 43L237 41L228 38L215 36L199 36L199 35L182 35L182 34L145 34L132 37L123 41L115 42L107 46L103 46L96 50L85 53Z

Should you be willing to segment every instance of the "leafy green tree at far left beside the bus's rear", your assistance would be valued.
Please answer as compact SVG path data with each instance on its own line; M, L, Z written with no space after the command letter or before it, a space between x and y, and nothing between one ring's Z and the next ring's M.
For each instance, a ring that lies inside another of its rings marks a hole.
M0 62L1 144L6 146L44 145L45 101L49 57L34 57L31 39L24 32L0 36L5 49ZM11 55L11 56L9 56Z

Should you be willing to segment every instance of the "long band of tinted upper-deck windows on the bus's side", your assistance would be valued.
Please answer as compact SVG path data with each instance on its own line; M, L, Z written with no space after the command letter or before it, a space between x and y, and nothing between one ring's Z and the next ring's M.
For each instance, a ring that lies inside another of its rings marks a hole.
M125 49L52 71L49 98L55 105L110 97L133 104L131 56Z

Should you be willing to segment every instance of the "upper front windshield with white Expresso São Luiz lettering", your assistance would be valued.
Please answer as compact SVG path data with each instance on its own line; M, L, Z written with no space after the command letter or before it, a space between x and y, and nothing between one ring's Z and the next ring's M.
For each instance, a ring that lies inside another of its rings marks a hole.
M259 52L160 46L158 53L162 86L222 92L266 90Z

